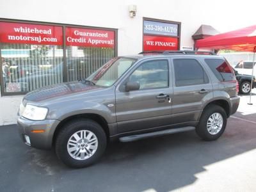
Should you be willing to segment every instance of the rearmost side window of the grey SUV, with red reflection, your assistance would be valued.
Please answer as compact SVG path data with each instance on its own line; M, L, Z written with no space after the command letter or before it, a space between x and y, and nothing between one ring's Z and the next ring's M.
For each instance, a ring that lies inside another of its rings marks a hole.
M221 82L236 80L234 72L227 61L221 59L205 59L205 63Z

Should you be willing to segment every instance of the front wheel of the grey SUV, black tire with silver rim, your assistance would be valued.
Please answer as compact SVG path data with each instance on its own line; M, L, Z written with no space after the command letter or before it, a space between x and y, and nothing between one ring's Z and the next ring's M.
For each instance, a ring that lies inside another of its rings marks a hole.
M102 127L93 120L68 122L56 136L58 158L72 168L95 163L106 150L107 138Z

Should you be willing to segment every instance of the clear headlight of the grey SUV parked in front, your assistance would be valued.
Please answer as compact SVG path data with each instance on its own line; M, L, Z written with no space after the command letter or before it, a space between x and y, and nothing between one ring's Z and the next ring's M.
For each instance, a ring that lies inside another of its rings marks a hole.
M30 120L44 120L48 113L47 108L36 107L31 104L26 104L26 108L22 116Z

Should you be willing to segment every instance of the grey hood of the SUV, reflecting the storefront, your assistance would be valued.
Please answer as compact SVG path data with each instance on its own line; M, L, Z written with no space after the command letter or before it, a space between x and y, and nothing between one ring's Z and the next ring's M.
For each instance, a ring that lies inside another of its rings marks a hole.
M47 86L45 88L40 88L33 92L29 92L24 100L38 102L42 100L48 100L56 97L65 97L66 95L81 93L81 92L92 92L95 90L103 89L99 86L92 86L82 82L70 82L61 83L52 86Z

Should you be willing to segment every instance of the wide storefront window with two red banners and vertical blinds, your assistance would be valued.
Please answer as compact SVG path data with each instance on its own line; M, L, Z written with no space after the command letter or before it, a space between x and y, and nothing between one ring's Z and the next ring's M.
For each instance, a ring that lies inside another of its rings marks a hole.
M2 94L85 79L115 52L115 30L0 21Z

